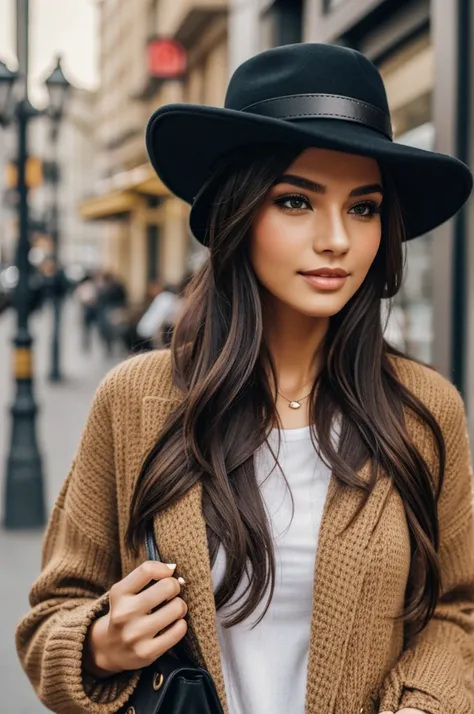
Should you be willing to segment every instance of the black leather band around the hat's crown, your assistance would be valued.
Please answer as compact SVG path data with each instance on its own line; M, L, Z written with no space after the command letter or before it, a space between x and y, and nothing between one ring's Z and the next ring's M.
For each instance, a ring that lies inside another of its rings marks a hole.
M343 119L365 124L390 141L393 139L390 117L384 111L373 104L339 94L291 94L250 104L241 111L284 120Z

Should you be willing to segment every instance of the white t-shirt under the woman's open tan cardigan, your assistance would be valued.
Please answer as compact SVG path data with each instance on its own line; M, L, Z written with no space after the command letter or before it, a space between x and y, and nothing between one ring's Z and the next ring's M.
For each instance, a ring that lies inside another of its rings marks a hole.
M275 545L275 592L270 607L254 629L251 626L263 612L266 597L249 619L230 629L222 627L222 620L235 607L226 606L217 613L230 714L304 714L315 557L331 474L313 447L309 427L280 434L279 454L277 429L268 441L291 488L292 520L291 497L268 446L263 444L254 456ZM224 569L221 547L212 569L214 590ZM244 582L237 593L242 592Z

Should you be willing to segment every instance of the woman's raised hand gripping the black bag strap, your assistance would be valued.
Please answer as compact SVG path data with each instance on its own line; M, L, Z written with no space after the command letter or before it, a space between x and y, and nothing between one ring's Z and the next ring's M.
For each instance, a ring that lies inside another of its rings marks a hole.
M109 612L87 635L84 668L90 674L102 678L142 669L183 639L188 609L178 597L184 580L172 577L175 567L146 561L111 587Z

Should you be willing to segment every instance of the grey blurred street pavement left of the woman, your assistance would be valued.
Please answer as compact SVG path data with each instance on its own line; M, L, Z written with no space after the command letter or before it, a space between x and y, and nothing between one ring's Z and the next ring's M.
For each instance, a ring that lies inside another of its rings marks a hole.
M67 476L82 428L102 377L122 357L106 358L96 338L90 354L80 348L79 310L71 300L63 320L62 364L65 379L48 382L51 311L47 306L32 320L35 339L35 395L40 408L38 443L43 459L48 512ZM14 396L11 338L14 314L0 316L0 498L10 438L9 406ZM96 337L96 336L95 336ZM3 502L0 503L3 513ZM29 610L28 592L39 575L42 531L15 532L0 528L0 712L41 714L48 711L36 698L18 662L14 633Z

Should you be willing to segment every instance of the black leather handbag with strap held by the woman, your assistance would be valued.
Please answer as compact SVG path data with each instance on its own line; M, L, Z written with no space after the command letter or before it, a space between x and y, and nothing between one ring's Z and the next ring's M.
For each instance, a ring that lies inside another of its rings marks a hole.
M146 533L148 560L161 560L153 526ZM224 714L212 677L193 662L184 640L146 667L120 714Z

